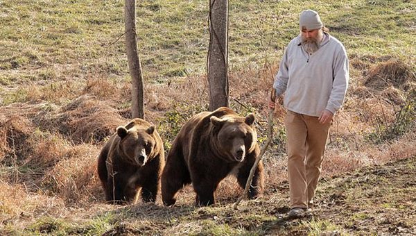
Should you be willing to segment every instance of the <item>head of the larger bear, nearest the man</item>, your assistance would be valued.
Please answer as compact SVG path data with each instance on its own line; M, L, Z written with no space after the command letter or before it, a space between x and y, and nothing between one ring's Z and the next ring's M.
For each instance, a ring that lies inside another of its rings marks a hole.
M257 145L257 132L254 128L254 115L247 117L226 117L220 119L212 116L217 149L229 162L243 162L245 155L254 151Z

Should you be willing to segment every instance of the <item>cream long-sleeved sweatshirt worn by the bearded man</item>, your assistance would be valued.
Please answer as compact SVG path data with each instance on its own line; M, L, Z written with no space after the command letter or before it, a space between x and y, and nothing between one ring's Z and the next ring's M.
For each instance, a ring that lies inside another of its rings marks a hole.
M326 109L335 114L344 102L349 80L345 47L325 33L320 49L309 54L295 37L286 48L273 87L284 94L286 109L319 117Z

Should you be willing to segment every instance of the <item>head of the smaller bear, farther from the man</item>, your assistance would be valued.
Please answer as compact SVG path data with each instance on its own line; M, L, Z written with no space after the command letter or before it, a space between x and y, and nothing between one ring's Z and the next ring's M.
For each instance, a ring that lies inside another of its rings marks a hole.
M153 125L148 128L138 128L137 126L132 126L129 129L125 126L117 128L117 135L120 137L119 150L127 162L139 167L148 162L156 145L154 132L155 126Z

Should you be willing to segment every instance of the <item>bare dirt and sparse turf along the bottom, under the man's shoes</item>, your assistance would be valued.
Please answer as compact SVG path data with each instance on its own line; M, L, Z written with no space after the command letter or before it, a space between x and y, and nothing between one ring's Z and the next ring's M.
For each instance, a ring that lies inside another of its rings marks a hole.
M141 204L119 209L112 212L119 223L105 235L415 235L415 170L413 157L322 179L313 214L303 219L287 219L283 183L262 199L243 201L238 210L231 199L208 208Z

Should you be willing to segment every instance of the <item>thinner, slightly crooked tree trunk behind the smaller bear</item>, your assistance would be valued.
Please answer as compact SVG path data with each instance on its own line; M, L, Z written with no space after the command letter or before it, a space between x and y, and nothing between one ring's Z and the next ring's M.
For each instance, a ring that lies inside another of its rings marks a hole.
M136 1L124 1L125 48L132 77L132 118L144 119L144 85L139 54L137 53Z

